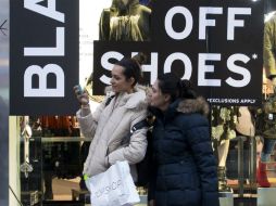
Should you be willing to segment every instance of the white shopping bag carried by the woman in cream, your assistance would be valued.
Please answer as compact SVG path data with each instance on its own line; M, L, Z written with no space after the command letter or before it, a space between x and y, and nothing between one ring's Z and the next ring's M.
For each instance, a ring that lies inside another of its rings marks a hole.
M92 206L123 206L140 202L129 165L116 162L105 172L86 180Z

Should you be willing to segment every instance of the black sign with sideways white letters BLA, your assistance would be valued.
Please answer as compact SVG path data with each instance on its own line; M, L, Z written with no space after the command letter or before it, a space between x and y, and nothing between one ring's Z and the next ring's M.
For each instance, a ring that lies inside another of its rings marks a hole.
M78 105L78 1L11 0L11 115L70 115Z

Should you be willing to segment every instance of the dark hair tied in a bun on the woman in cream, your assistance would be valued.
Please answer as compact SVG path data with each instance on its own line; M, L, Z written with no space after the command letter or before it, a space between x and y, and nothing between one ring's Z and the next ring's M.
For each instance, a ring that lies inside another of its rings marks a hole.
M115 65L124 67L123 74L126 79L134 78L135 86L141 78L141 64L146 62L146 55L143 53L138 53L134 57L123 57L121 61L116 62Z

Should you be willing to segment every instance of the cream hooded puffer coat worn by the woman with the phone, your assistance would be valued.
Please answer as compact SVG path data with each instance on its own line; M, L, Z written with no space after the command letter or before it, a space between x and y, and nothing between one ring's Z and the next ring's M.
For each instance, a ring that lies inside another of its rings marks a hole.
M113 95L114 93L110 93ZM130 128L147 117L146 93L136 88L134 93L121 93L105 106L108 98L98 106L93 114L83 116L77 112L80 131L86 138L91 138L89 154L84 165L84 173L95 176L105 171L116 160L127 160L131 175L136 180L135 167L140 162L147 149L147 129L135 131L130 142L122 145Z

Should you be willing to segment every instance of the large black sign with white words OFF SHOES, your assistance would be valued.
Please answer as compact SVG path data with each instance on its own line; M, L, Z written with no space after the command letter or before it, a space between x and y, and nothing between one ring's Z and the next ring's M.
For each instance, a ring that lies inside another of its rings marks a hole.
M95 41L93 94L110 85L114 60L145 52L147 85L173 72L212 104L259 105L263 16L262 1L156 1L150 42Z

